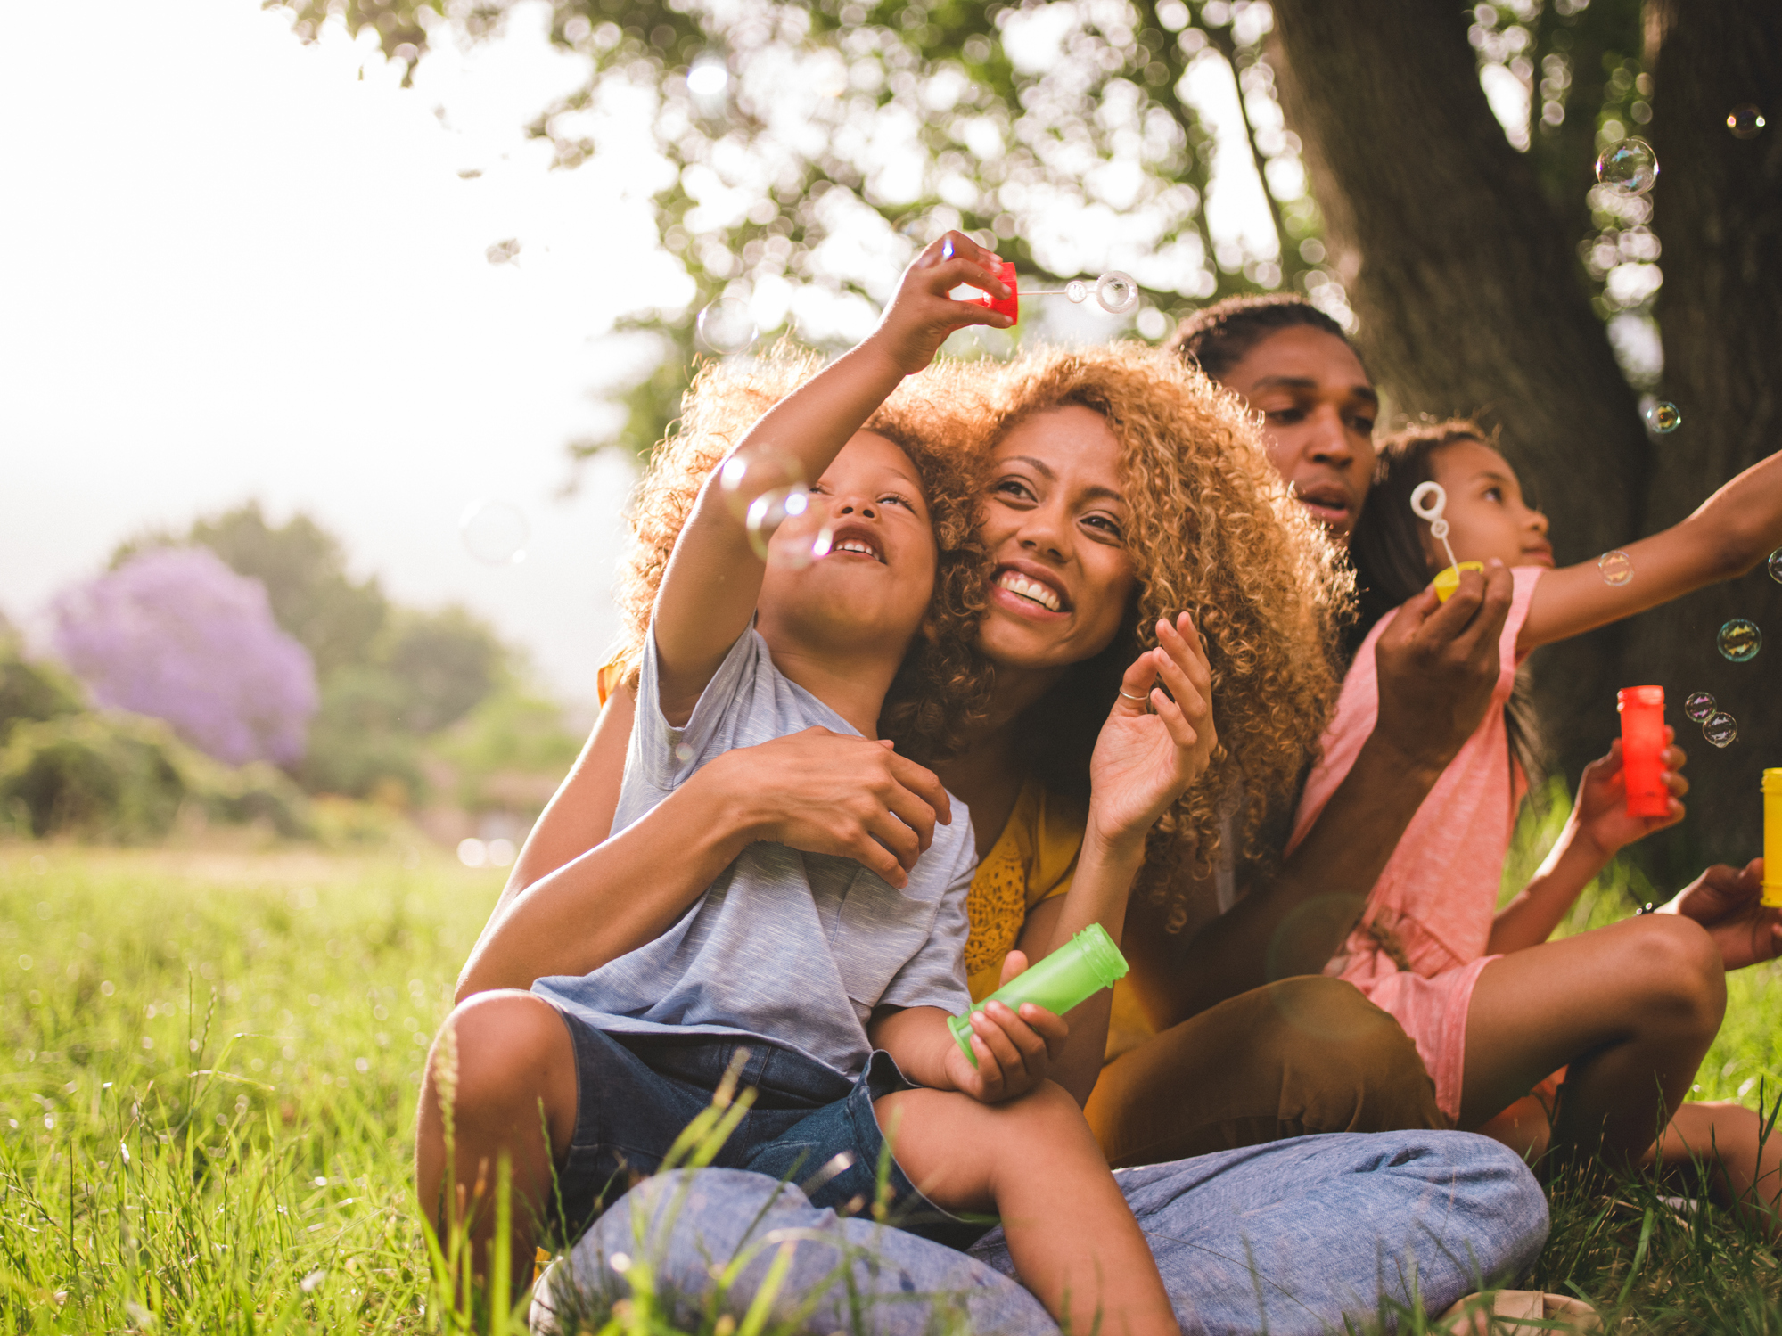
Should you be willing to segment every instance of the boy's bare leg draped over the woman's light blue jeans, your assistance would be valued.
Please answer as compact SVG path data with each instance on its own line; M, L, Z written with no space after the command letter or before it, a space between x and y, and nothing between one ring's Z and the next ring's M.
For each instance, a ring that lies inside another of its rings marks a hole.
M1176 1336L1132 1208L1076 1101L1046 1081L1007 1104L905 1090L873 1104L911 1183L950 1211L996 1211L1021 1283L1073 1331Z

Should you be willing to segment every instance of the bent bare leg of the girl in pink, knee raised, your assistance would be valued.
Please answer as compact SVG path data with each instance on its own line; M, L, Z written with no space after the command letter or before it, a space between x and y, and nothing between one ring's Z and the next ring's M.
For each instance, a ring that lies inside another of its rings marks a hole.
M1720 1030L1727 976L1695 923L1650 914L1493 960L1467 1017L1461 1128L1570 1065L1554 1144L1639 1161Z

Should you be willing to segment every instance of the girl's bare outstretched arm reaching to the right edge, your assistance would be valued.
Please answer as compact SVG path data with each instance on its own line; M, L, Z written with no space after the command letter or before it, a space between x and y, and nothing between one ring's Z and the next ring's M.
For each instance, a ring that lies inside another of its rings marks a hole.
M1623 616L1736 575L1782 547L1782 451L1753 463L1696 506L1682 524L1625 547L1634 563L1627 584L1609 584L1595 561L1541 577L1518 650L1581 636Z

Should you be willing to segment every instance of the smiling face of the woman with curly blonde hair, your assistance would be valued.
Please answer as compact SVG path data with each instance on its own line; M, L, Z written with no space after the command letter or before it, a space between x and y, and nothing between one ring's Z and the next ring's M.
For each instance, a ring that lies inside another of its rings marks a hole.
M1112 643L1137 586L1119 442L1082 404L1021 419L993 456L980 645L1000 668L1064 668Z

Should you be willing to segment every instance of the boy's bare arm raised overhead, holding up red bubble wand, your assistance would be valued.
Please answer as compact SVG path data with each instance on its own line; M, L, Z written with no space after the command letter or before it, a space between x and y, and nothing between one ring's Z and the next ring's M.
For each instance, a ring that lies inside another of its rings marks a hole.
M1007 315L946 296L960 285L1009 296L996 264L994 253L959 232L930 244L903 273L879 328L773 404L738 451L772 449L797 461L807 479L822 477L848 438L905 376L934 360L953 330L1012 324ZM691 714L723 656L748 627L761 572L763 563L713 476L681 531L656 595L656 654L668 720Z

